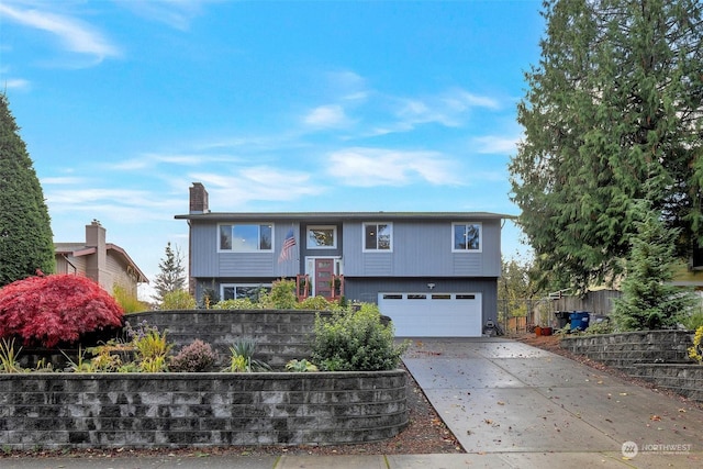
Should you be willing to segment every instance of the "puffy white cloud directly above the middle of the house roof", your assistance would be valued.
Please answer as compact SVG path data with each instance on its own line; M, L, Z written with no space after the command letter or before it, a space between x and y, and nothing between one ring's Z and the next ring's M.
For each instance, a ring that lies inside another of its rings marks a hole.
M451 163L437 152L354 147L333 152L326 160L330 175L346 186L408 186L416 179L461 183Z

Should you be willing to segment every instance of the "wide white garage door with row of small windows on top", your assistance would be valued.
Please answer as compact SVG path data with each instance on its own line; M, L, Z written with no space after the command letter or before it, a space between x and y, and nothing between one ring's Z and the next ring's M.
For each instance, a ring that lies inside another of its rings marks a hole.
M379 293L399 337L479 337L481 293Z

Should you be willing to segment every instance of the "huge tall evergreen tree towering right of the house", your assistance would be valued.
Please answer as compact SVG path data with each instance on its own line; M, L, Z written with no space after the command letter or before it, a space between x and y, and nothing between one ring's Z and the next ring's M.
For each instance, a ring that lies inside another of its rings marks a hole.
M554 289L612 281L649 199L703 245L703 22L698 0L548 0L518 104L512 199ZM645 189L645 186L649 186Z

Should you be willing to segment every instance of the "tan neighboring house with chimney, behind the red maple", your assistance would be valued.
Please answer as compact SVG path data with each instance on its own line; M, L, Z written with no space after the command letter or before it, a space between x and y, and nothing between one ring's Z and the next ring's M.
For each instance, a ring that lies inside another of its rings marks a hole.
M136 297L138 283L148 283L123 248L105 243L105 228L98 221L86 225L85 242L54 243L54 249L56 273L86 276L110 293L119 284Z

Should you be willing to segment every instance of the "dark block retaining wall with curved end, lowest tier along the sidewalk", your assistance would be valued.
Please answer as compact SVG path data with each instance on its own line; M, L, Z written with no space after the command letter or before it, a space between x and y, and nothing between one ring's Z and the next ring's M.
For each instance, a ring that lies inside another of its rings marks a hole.
M0 375L11 449L360 443L408 418L404 370Z

